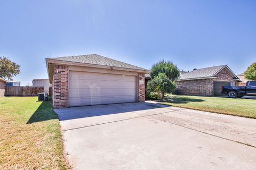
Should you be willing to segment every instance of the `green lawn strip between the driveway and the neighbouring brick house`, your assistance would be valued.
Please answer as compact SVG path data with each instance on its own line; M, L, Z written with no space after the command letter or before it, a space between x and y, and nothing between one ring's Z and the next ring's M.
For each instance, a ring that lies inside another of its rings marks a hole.
M174 101L165 102L164 104L213 113L256 118L256 99L179 95L171 95L170 97Z

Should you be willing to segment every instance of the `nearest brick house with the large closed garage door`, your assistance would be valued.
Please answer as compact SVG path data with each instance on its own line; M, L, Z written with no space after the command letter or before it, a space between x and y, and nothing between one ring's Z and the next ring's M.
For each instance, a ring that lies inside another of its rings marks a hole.
M97 54L46 58L54 108L145 101L149 70Z

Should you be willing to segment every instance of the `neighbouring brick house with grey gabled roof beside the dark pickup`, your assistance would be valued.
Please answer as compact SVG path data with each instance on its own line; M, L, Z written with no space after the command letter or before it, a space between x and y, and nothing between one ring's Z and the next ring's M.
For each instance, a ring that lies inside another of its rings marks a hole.
M227 65L220 65L181 73L176 84L180 95L221 96L222 86L235 86L239 81Z

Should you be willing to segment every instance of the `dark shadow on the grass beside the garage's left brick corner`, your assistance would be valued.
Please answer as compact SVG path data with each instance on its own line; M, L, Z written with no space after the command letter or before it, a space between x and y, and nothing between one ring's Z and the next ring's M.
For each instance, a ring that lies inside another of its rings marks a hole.
M42 104L36 109L33 115L29 118L27 124L54 120L54 119L58 119L58 116L53 110L51 101L48 100L48 101L42 102Z

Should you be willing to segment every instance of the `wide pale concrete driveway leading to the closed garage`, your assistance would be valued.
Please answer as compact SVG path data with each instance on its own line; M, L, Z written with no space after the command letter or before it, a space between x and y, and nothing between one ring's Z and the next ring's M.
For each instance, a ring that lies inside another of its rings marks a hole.
M253 119L152 103L55 112L74 169L256 169Z

